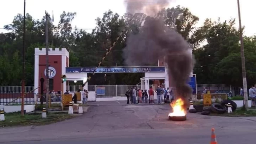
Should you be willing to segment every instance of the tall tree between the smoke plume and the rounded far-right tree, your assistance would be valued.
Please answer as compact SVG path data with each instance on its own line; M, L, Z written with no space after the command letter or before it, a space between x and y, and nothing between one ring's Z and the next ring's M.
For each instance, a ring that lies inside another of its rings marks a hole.
M207 80L212 83L225 83L225 80L219 78L213 70L230 53L239 52L238 31L234 25L234 19L228 22L220 22L220 20L211 22L211 20L206 19L204 26L198 32L195 32L197 34L201 33L198 36L207 42L203 47L194 50L197 63L194 72L201 76L201 78L197 77L199 82Z

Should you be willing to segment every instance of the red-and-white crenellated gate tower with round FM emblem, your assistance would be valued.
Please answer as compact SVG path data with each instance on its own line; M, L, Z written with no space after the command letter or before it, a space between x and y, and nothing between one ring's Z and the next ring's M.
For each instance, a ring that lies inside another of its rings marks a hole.
M35 48L34 87L40 86L40 79L46 80L46 49ZM49 48L49 90L61 91L61 75L65 74L69 66L69 52L66 48ZM44 83L44 89L45 89ZM35 93L40 92L40 88ZM65 90L65 87L64 87ZM45 93L46 91L44 91Z

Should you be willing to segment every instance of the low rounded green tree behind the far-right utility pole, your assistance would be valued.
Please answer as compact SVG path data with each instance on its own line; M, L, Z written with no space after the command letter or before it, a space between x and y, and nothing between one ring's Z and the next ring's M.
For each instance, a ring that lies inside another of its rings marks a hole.
M247 72L247 82L249 85L255 83L256 79L256 39L254 37L244 38L245 49L245 64ZM232 52L220 60L215 66L215 72L224 83L232 84L234 86L241 86L242 81L242 67L241 54L239 50Z

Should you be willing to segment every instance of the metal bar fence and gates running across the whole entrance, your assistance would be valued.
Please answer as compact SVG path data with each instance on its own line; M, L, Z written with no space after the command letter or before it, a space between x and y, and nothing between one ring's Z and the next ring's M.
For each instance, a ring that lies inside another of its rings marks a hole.
M159 85L149 85L152 86L155 90ZM164 86L164 85L163 85ZM77 91L81 86L66 86L66 90L69 90L71 93ZM89 85L88 91L95 92L95 98L113 98L113 97L121 97L126 98L125 93L131 87L145 89L145 85ZM203 87L207 87L211 93L218 92L228 93L230 91L230 87L228 85L223 84L197 84L197 93L202 93ZM25 90L31 91L33 90L33 86L26 86ZM232 88L233 89L233 88ZM0 87L0 104L8 104L13 100L19 98L21 92L21 86L8 86L8 87ZM6 91L12 92L7 93ZM234 94L233 94L234 95ZM51 101L54 102L56 98L51 98ZM15 100L12 104L19 104L21 99ZM35 102L39 102L38 94L29 93L29 95L25 96L25 104L32 104Z

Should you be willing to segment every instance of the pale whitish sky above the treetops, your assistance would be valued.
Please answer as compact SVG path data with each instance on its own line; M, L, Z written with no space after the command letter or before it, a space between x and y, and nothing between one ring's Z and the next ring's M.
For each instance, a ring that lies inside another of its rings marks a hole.
M199 17L196 27L202 26L206 18L220 18L220 21L235 18L238 27L237 0L172 0L169 7L177 5L187 7L192 14ZM256 19L249 16L252 15L255 5L255 0L240 0L242 26L245 26L244 34L248 36L256 34ZM58 24L59 15L63 11L76 12L72 27L77 28L95 28L95 19L101 18L109 9L123 15L126 12L126 3L123 0L26 0L26 13L32 15L34 19L41 20L45 11L50 14L53 11L55 25ZM24 0L0 0L0 28L11 24L14 16L18 13L23 14L23 11ZM0 29L1 32L7 31Z

